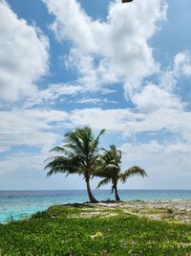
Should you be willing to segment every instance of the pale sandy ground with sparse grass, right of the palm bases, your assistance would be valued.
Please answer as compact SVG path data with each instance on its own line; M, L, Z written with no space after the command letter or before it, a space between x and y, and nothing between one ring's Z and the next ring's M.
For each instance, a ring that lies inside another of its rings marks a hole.
M114 216L122 211L153 220L169 222L191 223L191 199L168 200L129 200L121 202L98 202L96 204L84 203L89 206L83 210L82 217Z

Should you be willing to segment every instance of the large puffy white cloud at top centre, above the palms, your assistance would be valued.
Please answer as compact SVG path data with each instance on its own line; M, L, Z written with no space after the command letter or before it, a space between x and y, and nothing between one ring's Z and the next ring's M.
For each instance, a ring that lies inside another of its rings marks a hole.
M93 20L75 0L43 2L54 15L56 37L73 43L67 64L77 69L86 86L96 90L102 84L120 81L129 93L158 70L148 40L158 30L158 22L165 19L166 4L142 0L122 5L115 1L104 22Z

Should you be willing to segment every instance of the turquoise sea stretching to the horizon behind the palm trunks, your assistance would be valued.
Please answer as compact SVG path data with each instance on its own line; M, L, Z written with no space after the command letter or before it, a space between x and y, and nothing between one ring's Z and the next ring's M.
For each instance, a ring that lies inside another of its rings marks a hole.
M96 190L99 200L114 199L110 190ZM191 199L191 190L121 190L120 198L127 199ZM87 201L83 190L65 191L0 191L0 222L19 220L53 204Z

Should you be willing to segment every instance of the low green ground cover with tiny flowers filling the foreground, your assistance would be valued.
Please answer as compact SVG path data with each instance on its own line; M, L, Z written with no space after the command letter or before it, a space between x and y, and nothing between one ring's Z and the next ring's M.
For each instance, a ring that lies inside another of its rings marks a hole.
M0 255L191 255L191 225L116 210L116 217L79 217L87 210L53 206L30 220L0 224Z

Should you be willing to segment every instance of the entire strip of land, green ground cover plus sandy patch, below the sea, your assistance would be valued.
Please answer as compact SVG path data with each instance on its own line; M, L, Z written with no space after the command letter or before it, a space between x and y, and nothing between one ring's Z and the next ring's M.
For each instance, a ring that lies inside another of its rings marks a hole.
M191 200L54 205L0 224L0 255L191 255Z

